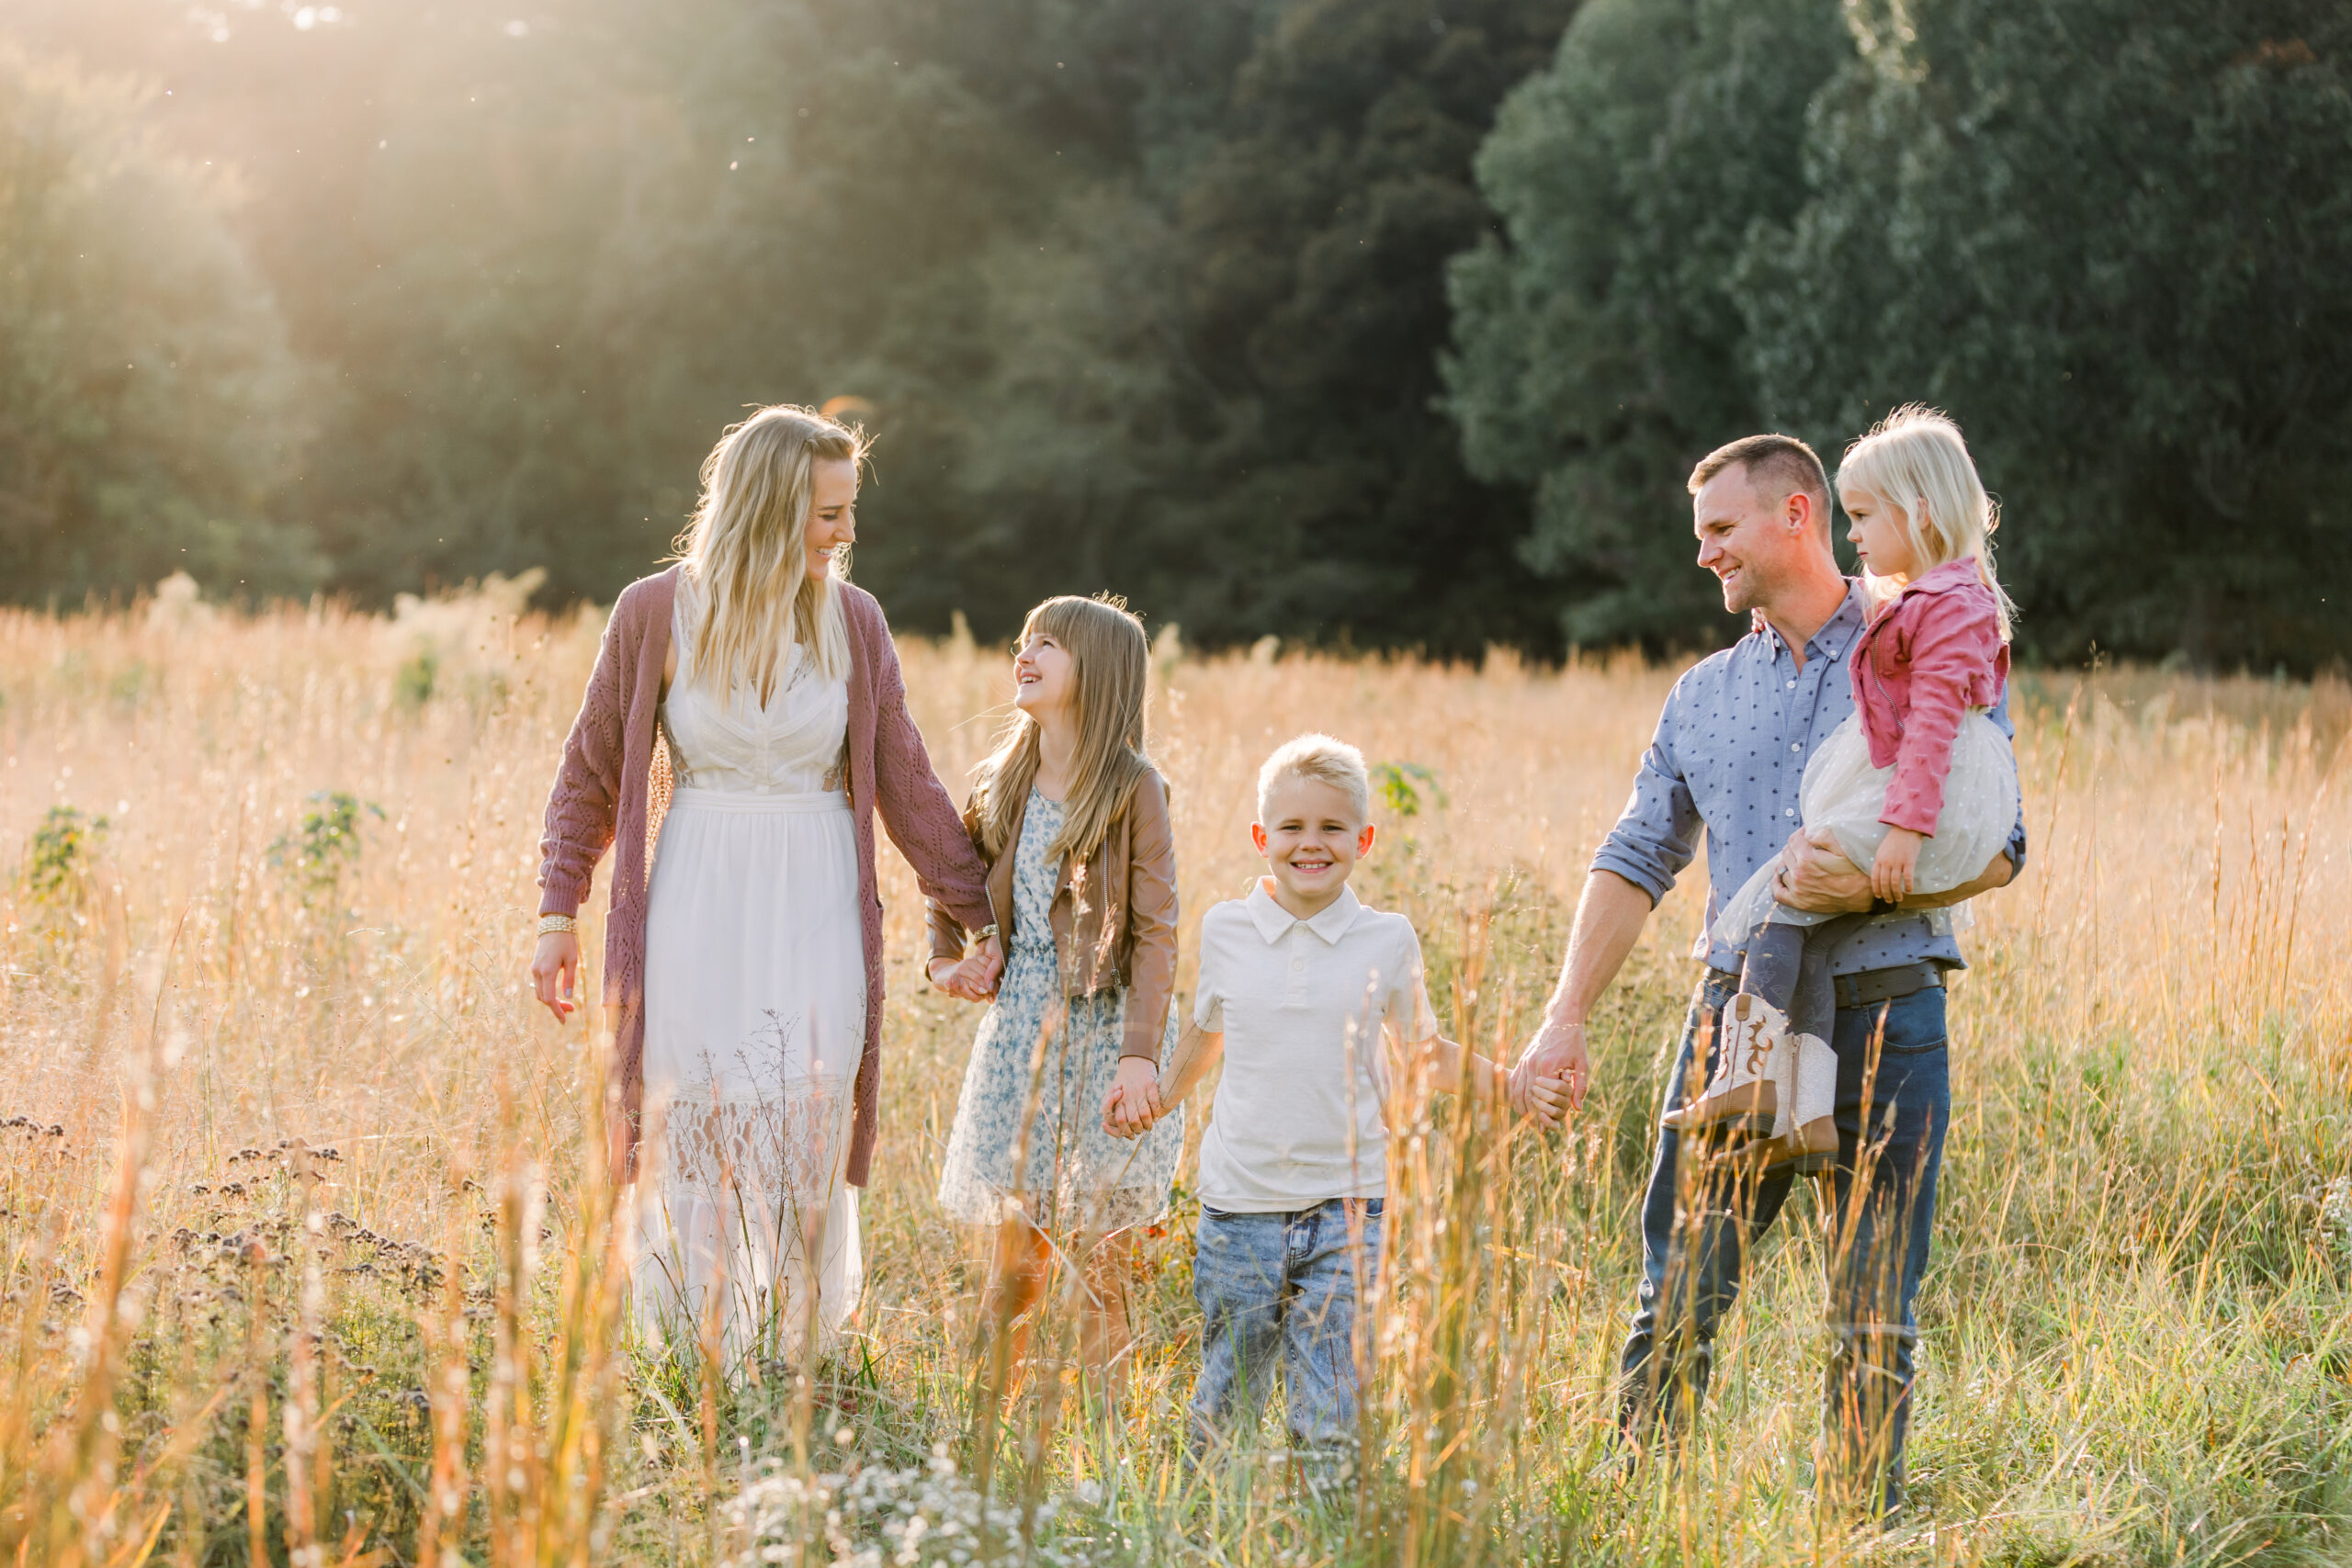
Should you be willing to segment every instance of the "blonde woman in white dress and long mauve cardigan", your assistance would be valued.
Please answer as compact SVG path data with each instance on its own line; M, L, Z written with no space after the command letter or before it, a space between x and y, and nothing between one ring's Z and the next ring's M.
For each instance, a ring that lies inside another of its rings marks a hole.
M795 1361L811 1331L823 1349L858 1300L882 999L870 813L929 896L990 910L880 607L840 578L861 458L809 409L727 433L680 564L614 607L548 802L534 980L557 1018L572 912L621 849L604 990L630 1128L654 1145L633 1312L680 1347L715 1328L729 1366ZM649 870L630 856L647 842ZM943 985L985 994L997 964L990 943Z

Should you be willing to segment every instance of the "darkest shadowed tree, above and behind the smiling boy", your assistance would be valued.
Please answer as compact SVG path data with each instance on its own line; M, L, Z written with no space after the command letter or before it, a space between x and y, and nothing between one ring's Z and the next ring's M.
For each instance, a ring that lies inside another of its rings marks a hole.
M1301 0L1242 63L1174 200L1181 473L1136 578L1209 639L1284 632L1550 646L1512 545L1435 409L1444 259L1491 223L1470 160L1571 0Z

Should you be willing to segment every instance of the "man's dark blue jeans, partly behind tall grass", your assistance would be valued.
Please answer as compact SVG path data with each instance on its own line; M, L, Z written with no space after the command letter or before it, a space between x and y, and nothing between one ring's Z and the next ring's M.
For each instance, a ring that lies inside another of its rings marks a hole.
M1710 1039L1719 1041L1722 1009L1736 990L1733 976L1708 971L1691 999L1668 1110L1682 1105L1691 1086L1700 1023L1715 1023ZM1832 1472L1823 1479L1853 1486L1858 1502L1877 1493L1879 1507L1903 1500L1903 1436L1919 1338L1912 1300L1926 1274L1936 1171L1952 1112L1943 1004L1943 987L1929 987L1842 1009L1830 1041L1837 1051L1837 1173L1823 1237L1830 1274L1823 1439ZM1684 1150L1691 1150L1689 1161ZM1740 1175L1705 1154L1696 1138L1661 1128L1642 1199L1642 1300L1618 1382L1618 1420L1637 1446L1684 1427L1705 1399L1715 1331L1738 1300L1750 1251L1797 1180Z

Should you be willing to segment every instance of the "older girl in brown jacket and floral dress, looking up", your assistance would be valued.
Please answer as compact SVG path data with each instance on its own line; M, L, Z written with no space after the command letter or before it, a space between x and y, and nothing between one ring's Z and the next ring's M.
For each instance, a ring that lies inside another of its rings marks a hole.
M988 863L1004 973L971 1041L938 1201L995 1227L983 1319L990 1387L1021 1363L1054 1241L1080 1260L1080 1368L1124 1382L1134 1232L1167 1211L1183 1117L1136 1140L1103 1126L1148 1095L1176 1037L1176 846L1143 736L1150 651L1112 599L1047 599L1014 651L1014 712L974 773L964 827ZM931 905L931 983L985 994L967 926Z

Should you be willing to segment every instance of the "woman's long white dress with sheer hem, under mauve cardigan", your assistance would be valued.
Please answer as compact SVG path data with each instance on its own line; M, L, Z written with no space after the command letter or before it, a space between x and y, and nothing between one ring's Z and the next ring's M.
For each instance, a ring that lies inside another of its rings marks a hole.
M644 936L635 1316L694 1342L713 1293L729 1361L823 1347L858 1300L851 1081L866 1046L856 835L842 792L849 686L793 646L762 708L677 677L661 729L677 778ZM814 1260L814 1267L811 1267Z

